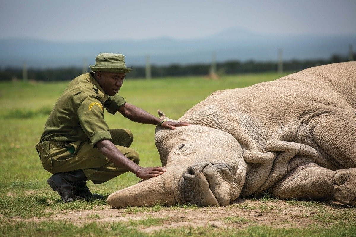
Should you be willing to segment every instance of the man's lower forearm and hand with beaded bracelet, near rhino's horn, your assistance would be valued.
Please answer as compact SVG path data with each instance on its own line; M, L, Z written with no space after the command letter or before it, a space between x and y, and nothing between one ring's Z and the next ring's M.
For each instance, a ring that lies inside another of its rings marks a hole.
M98 150L115 165L127 169L135 175L137 174L138 170L140 170L137 176L139 178L152 178L163 174L163 172L166 172L166 169L162 167L141 168L141 166L138 166L135 162L125 157L124 154L122 154L119 149L117 149L117 147L108 139L96 142L96 147L98 147Z

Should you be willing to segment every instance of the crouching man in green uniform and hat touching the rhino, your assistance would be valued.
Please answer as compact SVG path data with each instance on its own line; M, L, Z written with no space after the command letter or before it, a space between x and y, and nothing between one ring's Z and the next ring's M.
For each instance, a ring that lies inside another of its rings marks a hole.
M126 68L124 55L101 53L90 69L92 72L70 82L59 97L36 146L43 168L53 174L47 182L63 201L104 198L91 194L87 180L100 184L127 171L144 179L166 171L162 167L138 166L138 153L129 148L131 131L109 129L104 109L165 129L189 125L157 118L117 95L131 70Z

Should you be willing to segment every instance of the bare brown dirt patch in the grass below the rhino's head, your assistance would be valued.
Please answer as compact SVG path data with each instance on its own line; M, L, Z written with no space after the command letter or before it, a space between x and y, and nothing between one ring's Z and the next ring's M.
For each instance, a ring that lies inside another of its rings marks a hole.
M67 210L49 218L12 219L13 221L69 220L75 225L95 222L139 222L148 219L158 220L148 227L138 224L145 232L166 228L213 226L224 228L241 228L249 225L266 225L273 227L307 227L311 224L326 225L316 215L335 215L339 209L345 208L340 203L315 203L303 205L303 202L285 200L250 200L237 199L226 207L163 207L112 209L100 206L98 210ZM355 209L356 211L356 209ZM140 222L141 223L141 222Z

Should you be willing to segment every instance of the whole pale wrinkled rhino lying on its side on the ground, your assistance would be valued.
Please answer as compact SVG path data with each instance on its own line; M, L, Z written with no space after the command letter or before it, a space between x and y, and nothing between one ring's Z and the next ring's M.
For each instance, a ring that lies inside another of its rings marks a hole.
M356 206L355 95L356 61L216 91L179 119L192 125L156 129L167 171L107 202L226 206L269 192Z

